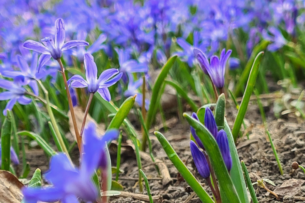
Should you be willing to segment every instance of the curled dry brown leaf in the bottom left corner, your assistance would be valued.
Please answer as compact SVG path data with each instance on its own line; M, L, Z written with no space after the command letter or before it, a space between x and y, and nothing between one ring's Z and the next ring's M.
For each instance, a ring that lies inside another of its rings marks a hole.
M0 170L0 202L20 203L22 193L20 189L23 184L9 171Z

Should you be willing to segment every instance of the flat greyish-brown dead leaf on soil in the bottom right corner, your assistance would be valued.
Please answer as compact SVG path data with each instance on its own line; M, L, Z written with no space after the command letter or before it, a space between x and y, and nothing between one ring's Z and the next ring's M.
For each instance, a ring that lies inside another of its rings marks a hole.
M274 189L278 195L287 196L287 195L299 195L301 193L300 187L305 183L305 180L289 179L285 180L281 186Z

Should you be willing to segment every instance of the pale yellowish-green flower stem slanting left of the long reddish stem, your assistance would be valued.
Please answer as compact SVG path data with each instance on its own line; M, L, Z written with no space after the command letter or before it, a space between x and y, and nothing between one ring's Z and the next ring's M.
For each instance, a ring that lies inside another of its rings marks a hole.
M46 99L46 103L45 103L45 106L47 108L47 111L48 111L48 114L50 116L50 119L51 119L51 122L53 124L53 127L54 127L54 130L55 130L55 136L56 138L58 139L59 141L59 145L61 147L61 149L63 149L63 152L66 153L67 157L69 158L69 160L71 161L71 158L69 156L69 152L66 148L66 145L65 143L63 142L63 138L60 134L60 131L59 131L59 128L58 128L58 125L57 125L57 122L56 122L56 119L54 117L54 114L52 112L52 109L51 109L51 106L50 106L50 101L49 101L49 95L48 95L48 90L45 89L45 86L43 86L43 84L41 83L40 80L37 80L39 86L41 87L41 89L43 90L43 92L45 93L45 99ZM42 98L41 98L42 99ZM72 162L72 161L71 161Z

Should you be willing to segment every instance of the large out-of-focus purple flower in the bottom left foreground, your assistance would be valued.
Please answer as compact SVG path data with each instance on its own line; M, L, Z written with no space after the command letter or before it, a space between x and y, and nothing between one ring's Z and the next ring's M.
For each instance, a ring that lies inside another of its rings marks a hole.
M28 203L37 201L75 203L79 202L78 198L80 198L82 201L95 202L99 191L92 182L92 175L101 164L106 162L103 155L107 146L106 142L117 138L118 134L117 130L110 130L99 138L95 124L89 123L82 137L83 154L80 169L76 168L64 153L52 156L50 168L44 175L52 186L23 188L25 201Z

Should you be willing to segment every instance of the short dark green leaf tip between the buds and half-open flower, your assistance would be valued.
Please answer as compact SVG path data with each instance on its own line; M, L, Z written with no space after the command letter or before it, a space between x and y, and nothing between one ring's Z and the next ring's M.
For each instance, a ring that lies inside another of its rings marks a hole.
M219 95L218 100L214 109L214 117L216 121L216 125L218 131L224 129L224 111L225 111L226 99L224 97L224 93Z

